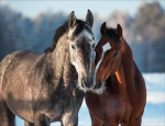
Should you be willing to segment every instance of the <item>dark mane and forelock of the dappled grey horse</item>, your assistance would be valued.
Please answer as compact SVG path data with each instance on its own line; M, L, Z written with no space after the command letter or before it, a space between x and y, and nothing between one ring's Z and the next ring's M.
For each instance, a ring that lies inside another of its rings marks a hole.
M85 21L76 20L76 24L78 24L79 26L74 32L74 36L73 37L77 36L84 28L92 34L91 30L87 25L85 25L86 24ZM61 38L61 36L63 36L65 33L67 33L68 30L69 30L68 21L65 21L65 23L62 26L59 26L57 30L55 30L55 32L54 32L55 34L53 36L53 44L52 44L51 47L45 49L46 54L47 53L52 53L55 49L58 39Z

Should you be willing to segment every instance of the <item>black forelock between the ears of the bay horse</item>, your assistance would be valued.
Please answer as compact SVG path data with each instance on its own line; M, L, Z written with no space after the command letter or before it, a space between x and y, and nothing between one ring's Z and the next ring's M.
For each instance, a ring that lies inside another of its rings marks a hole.
M116 28L107 28L106 35L108 35L110 38L113 38L116 42L120 42L118 35L116 34Z

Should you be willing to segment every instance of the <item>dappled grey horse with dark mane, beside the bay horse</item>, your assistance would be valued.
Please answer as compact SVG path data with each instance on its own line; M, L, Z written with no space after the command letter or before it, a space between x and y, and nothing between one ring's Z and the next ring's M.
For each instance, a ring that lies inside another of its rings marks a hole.
M94 16L86 21L74 11L59 26L43 55L18 50L0 62L0 126L14 126L15 115L25 126L77 126L95 59Z

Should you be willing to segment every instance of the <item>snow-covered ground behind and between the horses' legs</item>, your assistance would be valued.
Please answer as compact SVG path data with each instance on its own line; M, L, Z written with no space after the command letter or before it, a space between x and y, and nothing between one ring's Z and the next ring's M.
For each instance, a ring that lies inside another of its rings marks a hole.
M147 90L147 102L142 119L143 126L165 126L165 73L143 73ZM16 126L24 122L16 117ZM53 123L51 126L61 126ZM78 126L91 126L88 108L84 101L79 111Z

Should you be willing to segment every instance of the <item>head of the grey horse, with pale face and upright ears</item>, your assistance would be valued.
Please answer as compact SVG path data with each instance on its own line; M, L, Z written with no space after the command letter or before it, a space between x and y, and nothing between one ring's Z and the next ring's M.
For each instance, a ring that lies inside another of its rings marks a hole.
M70 62L78 73L78 87L86 91L92 87L91 66L95 60L95 36L91 31L92 13L88 10L86 21L77 20L74 12L68 18Z

